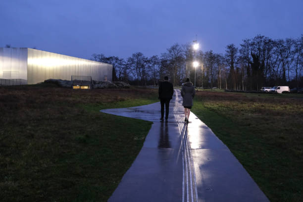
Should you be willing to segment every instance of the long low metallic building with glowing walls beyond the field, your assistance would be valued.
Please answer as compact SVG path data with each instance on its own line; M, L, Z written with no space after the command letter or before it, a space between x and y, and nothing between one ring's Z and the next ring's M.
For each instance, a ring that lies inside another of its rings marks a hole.
M0 48L0 85L1 80L2 85L4 81L37 84L47 79L71 80L71 76L111 81L112 65L43 50Z

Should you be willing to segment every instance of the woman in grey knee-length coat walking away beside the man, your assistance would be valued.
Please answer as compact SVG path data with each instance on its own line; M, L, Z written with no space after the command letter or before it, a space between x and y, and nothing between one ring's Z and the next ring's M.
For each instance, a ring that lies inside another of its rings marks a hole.
M195 96L195 87L193 83L186 79L186 83L182 86L181 96L183 98L182 105L184 106L185 122L189 122L188 118L193 106L193 98Z

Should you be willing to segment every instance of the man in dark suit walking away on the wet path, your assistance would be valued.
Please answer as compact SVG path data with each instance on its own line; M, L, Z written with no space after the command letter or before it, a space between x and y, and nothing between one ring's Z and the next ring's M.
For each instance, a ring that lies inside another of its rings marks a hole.
M164 117L164 104L165 104L165 120L168 119L169 112L169 101L172 99L172 95L174 94L174 88L171 83L168 82L168 77L164 77L164 81L159 84L159 99L161 102L161 118L163 121Z

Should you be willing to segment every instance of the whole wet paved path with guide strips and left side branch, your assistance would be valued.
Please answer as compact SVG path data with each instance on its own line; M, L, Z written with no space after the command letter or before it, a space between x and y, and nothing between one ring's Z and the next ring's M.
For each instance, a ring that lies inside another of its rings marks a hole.
M229 149L191 113L184 123L179 90L167 122L160 103L101 110L152 121L144 146L109 202L268 202Z

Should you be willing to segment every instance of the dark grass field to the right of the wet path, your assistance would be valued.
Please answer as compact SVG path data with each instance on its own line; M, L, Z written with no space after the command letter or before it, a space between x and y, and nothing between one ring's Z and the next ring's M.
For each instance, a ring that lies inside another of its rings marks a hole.
M199 91L193 112L271 202L302 202L303 97Z

